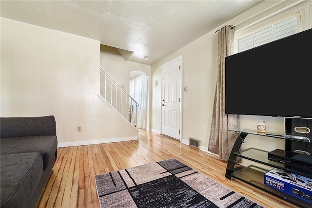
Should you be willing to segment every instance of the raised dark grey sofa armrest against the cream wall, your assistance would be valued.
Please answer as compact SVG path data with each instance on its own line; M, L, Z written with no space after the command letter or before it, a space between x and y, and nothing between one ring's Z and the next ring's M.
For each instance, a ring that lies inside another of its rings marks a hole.
M48 135L57 135L54 115L0 118L0 137Z

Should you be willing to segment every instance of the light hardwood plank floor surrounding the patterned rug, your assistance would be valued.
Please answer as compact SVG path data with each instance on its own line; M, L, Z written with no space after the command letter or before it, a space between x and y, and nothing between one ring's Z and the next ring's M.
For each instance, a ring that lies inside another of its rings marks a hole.
M37 208L99 208L94 176L176 158L266 208L297 208L278 197L224 176L226 162L178 140L140 130L139 140L65 147Z

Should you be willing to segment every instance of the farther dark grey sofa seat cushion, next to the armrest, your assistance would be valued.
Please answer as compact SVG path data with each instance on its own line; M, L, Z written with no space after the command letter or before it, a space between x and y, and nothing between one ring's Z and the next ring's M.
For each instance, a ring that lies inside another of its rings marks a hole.
M55 163L53 158L57 151L58 140L56 136L25 136L1 138L0 153L14 154L25 152L39 152L43 159L43 170L48 163Z

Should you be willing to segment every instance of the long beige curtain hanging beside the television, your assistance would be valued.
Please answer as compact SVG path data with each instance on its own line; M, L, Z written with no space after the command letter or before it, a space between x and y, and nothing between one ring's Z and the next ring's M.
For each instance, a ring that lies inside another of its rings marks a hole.
M234 54L234 30L230 25L219 30L218 76L215 87L215 101L211 120L208 151L227 161L237 138L237 133L228 129L238 128L237 115L225 114L225 57Z

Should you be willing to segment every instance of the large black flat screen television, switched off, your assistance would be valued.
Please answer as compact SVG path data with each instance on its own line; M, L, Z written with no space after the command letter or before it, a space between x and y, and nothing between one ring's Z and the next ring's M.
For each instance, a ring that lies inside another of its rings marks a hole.
M226 57L225 113L312 118L312 29Z

